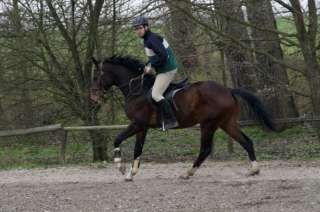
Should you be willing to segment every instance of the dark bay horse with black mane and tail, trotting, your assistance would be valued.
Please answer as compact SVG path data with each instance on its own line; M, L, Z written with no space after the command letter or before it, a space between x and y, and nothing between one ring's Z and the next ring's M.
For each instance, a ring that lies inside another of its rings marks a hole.
M132 180L138 172L147 131L149 128L158 127L157 113L147 98L154 77L149 75L143 77L143 63L131 57L113 56L103 62L97 62L93 58L93 61L96 70L90 88L90 98L95 102L98 101L103 91L107 91L113 85L117 86L125 96L125 112L131 123L114 141L114 162L124 174L120 145L125 139L136 135L134 161L126 176L126 180ZM137 89L133 89L133 87L137 87ZM214 133L218 128L221 128L239 142L248 153L251 161L248 174L259 173L253 143L240 130L238 124L240 105L236 96L243 98L249 104L262 124L271 130L275 130L268 112L252 93L244 89L226 88L213 81L193 83L174 96L174 102L177 106L175 115L179 123L178 128L200 124L201 130L201 147L198 158L192 168L181 177L189 178L193 176L207 158L212 150Z

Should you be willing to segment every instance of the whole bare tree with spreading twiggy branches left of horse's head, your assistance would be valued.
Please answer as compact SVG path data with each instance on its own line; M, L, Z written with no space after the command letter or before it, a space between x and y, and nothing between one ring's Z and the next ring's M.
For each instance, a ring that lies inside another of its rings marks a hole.
M96 48L98 22L103 0L92 1L18 1L17 8L24 12L28 40L36 41L26 49L25 41L17 54L36 67L38 75L47 79L45 92L54 100L65 105L71 116L80 118L85 125L99 123L99 107L92 105L88 98L91 81L91 57ZM10 5L7 3L8 8ZM17 18L13 20L19 20ZM15 26L22 25L16 22ZM22 27L16 27L16 32ZM21 63L23 65L23 63ZM22 69L21 69L22 70ZM22 70L23 71L23 70ZM24 76L25 79L28 77ZM90 131L94 160L106 160L106 142L99 132Z

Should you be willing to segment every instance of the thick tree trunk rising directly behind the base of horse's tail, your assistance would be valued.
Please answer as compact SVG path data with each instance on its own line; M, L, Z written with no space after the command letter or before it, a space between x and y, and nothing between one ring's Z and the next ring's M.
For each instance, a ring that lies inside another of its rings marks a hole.
M231 21L227 17L232 17L233 19L238 19L239 21L244 21L243 13L241 10L241 3L238 0L230 1L217 1L216 9L220 14L224 14L225 17L221 18L221 23L223 24L223 32L237 38L239 40L248 41L248 33L243 25ZM252 55L241 48L234 42L225 39L223 41L225 52L227 68L231 73L231 78L234 87L242 87L256 92L256 75L253 66L251 65ZM242 114L241 119L252 119L253 114L250 112L247 104L242 104Z

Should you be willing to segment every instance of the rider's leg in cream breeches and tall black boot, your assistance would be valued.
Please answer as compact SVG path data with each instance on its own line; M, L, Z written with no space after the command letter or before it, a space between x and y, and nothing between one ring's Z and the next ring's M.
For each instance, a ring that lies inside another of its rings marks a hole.
M152 98L158 103L164 119L165 126L163 130L165 130L165 128L173 128L178 125L171 105L163 97L163 93L166 91L170 83L174 80L176 72L176 70L173 70L170 72L158 74L152 87Z

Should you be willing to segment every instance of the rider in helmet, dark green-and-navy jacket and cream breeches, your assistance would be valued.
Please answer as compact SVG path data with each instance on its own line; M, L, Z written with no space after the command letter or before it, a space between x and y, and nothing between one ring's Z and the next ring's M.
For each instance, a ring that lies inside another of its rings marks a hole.
M157 103L163 117L162 129L178 126L170 103L163 97L163 93L174 80L177 73L177 62L168 42L160 35L150 31L148 19L144 16L136 17L132 22L135 33L143 39L145 53L149 58L144 73L156 74L151 96Z

